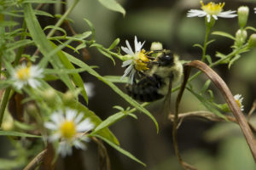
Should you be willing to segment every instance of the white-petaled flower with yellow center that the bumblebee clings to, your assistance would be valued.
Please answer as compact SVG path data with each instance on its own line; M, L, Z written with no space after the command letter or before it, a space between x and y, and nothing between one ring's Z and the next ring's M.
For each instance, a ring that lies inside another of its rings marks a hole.
M127 60L123 62L122 67L127 67L125 69L125 74L123 77L129 75L129 81L132 83L134 80L134 75L136 71L145 71L148 70L147 63L148 58L146 56L146 51L143 48L144 42L137 42L137 37L134 38L134 47L135 51L131 49L130 43L126 40L126 46L121 47L122 50L127 54Z

